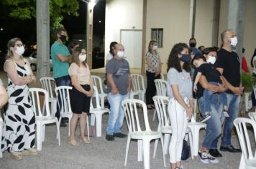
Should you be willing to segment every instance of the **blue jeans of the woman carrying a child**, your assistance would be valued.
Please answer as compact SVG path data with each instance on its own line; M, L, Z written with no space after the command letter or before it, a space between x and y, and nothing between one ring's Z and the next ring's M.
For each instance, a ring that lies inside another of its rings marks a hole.
M221 120L224 120L222 114L222 97L219 94L214 94L211 97L210 103L206 103L204 97L198 99L198 105L205 107L206 104L211 106L211 118L207 120L206 135L202 146L209 149L217 149L218 139L221 135Z

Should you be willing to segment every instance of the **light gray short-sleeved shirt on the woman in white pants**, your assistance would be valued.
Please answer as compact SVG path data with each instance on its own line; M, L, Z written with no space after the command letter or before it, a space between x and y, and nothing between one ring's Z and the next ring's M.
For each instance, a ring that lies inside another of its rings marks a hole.
M167 94L168 97L173 98L173 90L170 85L178 84L178 90L180 95L184 98L188 99L192 97L192 81L189 72L182 70L182 72L178 72L175 68L170 68L167 74Z

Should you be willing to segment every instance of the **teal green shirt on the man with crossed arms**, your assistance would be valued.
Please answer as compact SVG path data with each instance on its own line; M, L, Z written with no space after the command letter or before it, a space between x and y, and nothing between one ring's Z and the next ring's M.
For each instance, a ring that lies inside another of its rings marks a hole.
M67 76L69 64L67 62L61 62L57 56L59 54L63 54L64 57L68 57L68 55L70 54L68 52L68 47L55 41L54 44L52 44L50 53L52 56L53 77L58 78Z

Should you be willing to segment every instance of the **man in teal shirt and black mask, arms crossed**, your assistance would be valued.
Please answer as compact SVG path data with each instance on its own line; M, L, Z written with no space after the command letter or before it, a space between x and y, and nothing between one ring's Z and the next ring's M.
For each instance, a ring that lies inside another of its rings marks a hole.
M56 31L57 40L52 44L50 49L52 57L52 69L55 84L59 86L68 86L70 83L70 77L68 75L70 53L68 47L63 44L67 40L67 31L64 28L57 29ZM60 100L60 98L58 98ZM60 107L57 106L57 112L55 117L60 119ZM65 127L65 122L61 122L60 126Z

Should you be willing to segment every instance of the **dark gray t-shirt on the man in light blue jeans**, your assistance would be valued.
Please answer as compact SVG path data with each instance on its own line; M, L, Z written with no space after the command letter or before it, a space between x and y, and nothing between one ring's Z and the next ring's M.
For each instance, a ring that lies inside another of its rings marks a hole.
M129 63L126 59L116 59L113 57L106 64L106 74L112 74L119 94L126 95L129 85ZM107 92L111 92L111 85L107 82Z

